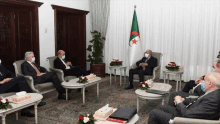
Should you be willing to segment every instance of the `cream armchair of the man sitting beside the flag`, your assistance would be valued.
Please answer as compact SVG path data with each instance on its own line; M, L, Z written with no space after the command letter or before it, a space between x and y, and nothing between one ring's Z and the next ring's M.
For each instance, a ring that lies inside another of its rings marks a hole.
M152 52L152 56L157 58L157 66L153 70L153 75L144 75L144 80L153 79L153 81L157 81L160 79L160 70L161 70L161 61L162 61L162 53ZM134 74L134 82L139 81L138 74Z

